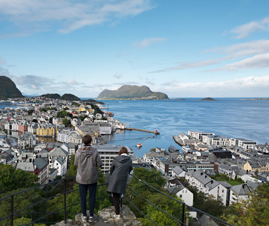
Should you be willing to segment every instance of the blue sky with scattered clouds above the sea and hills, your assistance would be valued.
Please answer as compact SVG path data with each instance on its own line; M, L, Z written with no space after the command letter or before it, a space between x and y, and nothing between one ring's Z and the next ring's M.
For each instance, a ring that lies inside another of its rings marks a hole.
M0 0L0 76L31 95L269 97L269 1Z

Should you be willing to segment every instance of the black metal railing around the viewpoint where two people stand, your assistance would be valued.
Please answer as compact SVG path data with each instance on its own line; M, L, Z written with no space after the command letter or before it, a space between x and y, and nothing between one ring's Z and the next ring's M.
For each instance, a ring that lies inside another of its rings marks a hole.
M106 171L100 171L100 172L98 172L98 173L104 173L104 172L108 172L108 170L106 170ZM146 198L142 197L142 196L139 195L136 191L134 191L133 189L131 189L130 187L127 186L127 188L128 188L130 191L132 191L132 193L136 194L137 196L139 196L140 198L142 198L144 201L148 202L150 205L152 205L152 206L154 206L156 209L160 210L162 213L165 213L167 216L169 216L169 217L171 217L172 219L178 221L178 223L179 223L180 226L183 226L183 225L188 226L187 224L184 223L185 220L186 220L186 219L184 219L185 208L189 208L189 209L192 209L192 210L194 210L194 211L196 211L196 212L205 214L205 215L211 217L212 219L214 219L214 220L216 220L216 221L222 223L223 225L234 226L234 225L229 224L229 223L227 223L227 222L225 222L225 221L223 221L223 220L221 220L221 219L218 219L217 217L214 217L214 216L212 216L212 215L210 215L210 214L208 214L208 213L205 213L205 212L203 212L203 211L201 211L201 210L199 210L199 209L196 209L196 208L194 208L194 207L192 207L192 206L189 206L189 205L185 204L184 202L180 202L179 200L177 200L177 199L175 199L175 198L173 198L173 197L171 197L171 196L169 196L169 195L167 195L167 194L165 194L165 193L159 191L158 189L155 189L154 187L150 186L149 184L147 184L146 182L140 180L139 178L137 178L136 176L134 176L134 175L132 175L132 174L130 174L130 176L132 176L132 177L136 178L137 180L139 180L140 182L146 184L148 187L150 187L151 189L157 191L158 193L161 193L161 194L163 194L163 195L165 195L165 196L167 196L167 197L173 199L174 201L176 201L176 202L182 204L181 219L177 219L176 217L174 217L174 216L172 216L171 214L165 212L164 210L162 210L162 209L159 208L158 206L154 205L153 203L151 203L150 201L148 201ZM66 209L67 209L68 207L80 204L80 202L78 202L78 203L75 203L75 204L66 205L66 194L71 193L71 192L74 192L74 191L79 191L79 189L75 189L75 190L72 190L72 191L66 191L66 180L74 179L74 178L76 178L76 177L73 176L73 177L69 177L69 178L63 178L63 179L60 179L60 180L56 180L56 181L54 181L54 182L49 182L49 183L47 183L47 184L39 185L39 186L30 188L30 189L27 189L27 190L24 190L24 191L20 191L20 192L15 193L15 194L11 194L11 195L9 195L9 196L7 196L7 197L1 198L1 199L0 199L0 202L1 202L2 200L4 200L4 199L7 199L7 198L11 198L11 199L10 199L10 214L9 214L8 216L2 217L2 218L0 219L0 222L3 221L3 220L5 220L5 219L7 219L7 218L10 218L10 226L29 226L29 225L32 225L32 226L33 226L34 224L40 224L40 223L43 223L43 224L46 224L46 223L48 223L48 224L49 224L49 223L50 223L50 224L53 224L53 223L57 223L57 222L38 222L38 221L40 221L41 219L44 219L45 217L47 217L47 216L49 216L49 215L51 215L51 214L64 214L64 222L66 223L66 220L67 220L67 219L66 219L67 214L79 214L79 213L67 213L67 211L66 211ZM17 210L16 212L14 212L14 197L15 197L15 195L18 195L18 194L21 194L21 193L24 193L24 192L26 192L26 191L30 191L30 190L32 190L32 189L36 189L36 188L39 188L39 187L44 187L44 186L47 186L47 185L49 185L49 184L59 183L59 182L62 182L62 181L63 181L63 193L54 195L54 196L49 197L49 198L46 198L46 199L43 199L43 200L41 200L41 201L39 201L39 202L36 202L36 203L34 203L34 204L31 204L31 205L29 205L29 206L27 206L27 207L25 207L25 208L23 208L23 209L20 209L20 210ZM103 185L107 185L107 184L108 184L108 183L105 183L105 184L98 184L97 186L103 186ZM63 195L63 207L60 208L60 209L57 209L57 210L55 210L55 211L53 211L53 212L33 212L33 211L32 211L32 212L29 212L29 213L20 213L20 212L22 212L23 210L26 210L26 209L28 209L28 208L30 208L30 207L32 207L32 206L35 206L35 205L40 204L41 202L44 202L44 201L47 201L47 200L49 200L49 199L58 197L58 196L60 196L60 195ZM98 200L98 199L103 199L103 198L108 198L108 197L111 197L111 195L107 195L107 196L105 196L105 197L96 198L96 200ZM154 222L152 219L150 219L146 214L144 214L143 212L141 212L141 210L139 210L136 206L134 206L134 205L132 204L132 202L130 202L128 199L126 199L126 197L123 197L123 199L124 199L128 204L130 204L131 206L133 206L137 211L139 211L143 216L145 216L148 220L150 220L152 223L154 223L154 224L157 225L157 226L160 226L160 225L158 225L156 222ZM89 201L89 200L88 200L88 201ZM122 199L121 199L121 206L122 206ZM63 210L63 213L59 212L59 211L61 211L61 210ZM31 214L31 222L30 222L30 223L28 223L28 224L22 224L22 225L13 225L13 219L14 219L15 216L21 216L21 215L26 215L26 214ZM42 217L39 217L39 218L36 219L36 220L34 220L34 214L45 214L45 215L42 216Z

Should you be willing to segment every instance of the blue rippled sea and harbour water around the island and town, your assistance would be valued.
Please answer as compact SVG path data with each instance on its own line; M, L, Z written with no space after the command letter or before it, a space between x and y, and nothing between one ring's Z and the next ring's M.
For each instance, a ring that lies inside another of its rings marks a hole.
M90 99L90 98L82 98ZM92 99L92 98L91 98ZM102 100L115 119L127 127L155 131L160 134L136 130L117 130L117 134L102 136L107 144L126 145L132 148L135 157L143 157L151 148L177 149L173 135L188 133L188 130L205 131L233 138L246 138L269 142L269 100L242 100L242 98L214 98L219 101L186 100ZM0 108L5 108L0 103ZM105 110L107 111L107 110ZM152 137L154 136L154 137ZM145 139L147 137L147 139ZM136 147L142 143L140 148Z

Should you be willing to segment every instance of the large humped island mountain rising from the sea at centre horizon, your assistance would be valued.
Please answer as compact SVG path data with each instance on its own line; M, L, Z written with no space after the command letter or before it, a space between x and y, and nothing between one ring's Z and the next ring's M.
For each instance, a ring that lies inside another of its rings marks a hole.
M169 99L165 93L152 92L145 85L123 85L117 90L104 89L97 97L98 98L132 98L132 97L149 97L156 96L152 99Z

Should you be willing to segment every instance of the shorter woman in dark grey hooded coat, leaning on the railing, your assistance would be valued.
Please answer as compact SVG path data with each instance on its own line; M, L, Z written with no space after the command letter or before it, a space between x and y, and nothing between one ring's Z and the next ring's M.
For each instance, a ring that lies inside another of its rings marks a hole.
M119 212L119 199L121 194L126 193L128 174L133 169L133 163L128 155L127 148L122 147L119 150L119 156L113 159L110 167L111 178L107 187L107 191L112 193L115 206L115 213L111 214L116 219L121 219Z

